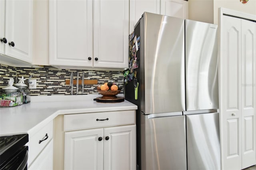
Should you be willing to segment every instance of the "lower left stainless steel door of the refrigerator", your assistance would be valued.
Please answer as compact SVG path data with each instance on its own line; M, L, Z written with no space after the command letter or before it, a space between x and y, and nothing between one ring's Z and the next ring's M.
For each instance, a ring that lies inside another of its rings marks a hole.
M142 170L186 170L185 116L148 116L142 115Z

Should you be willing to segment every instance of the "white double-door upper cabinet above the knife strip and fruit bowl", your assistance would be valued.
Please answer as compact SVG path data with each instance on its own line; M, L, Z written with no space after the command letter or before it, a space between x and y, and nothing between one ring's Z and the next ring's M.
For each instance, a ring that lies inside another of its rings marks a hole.
M50 0L50 65L128 67L128 0Z

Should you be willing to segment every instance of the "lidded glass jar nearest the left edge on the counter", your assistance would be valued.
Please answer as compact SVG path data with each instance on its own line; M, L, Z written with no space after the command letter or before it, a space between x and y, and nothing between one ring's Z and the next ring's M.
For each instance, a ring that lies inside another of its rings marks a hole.
M8 86L0 93L1 107L14 107L23 104L23 96L17 87L13 85L13 78L9 80Z

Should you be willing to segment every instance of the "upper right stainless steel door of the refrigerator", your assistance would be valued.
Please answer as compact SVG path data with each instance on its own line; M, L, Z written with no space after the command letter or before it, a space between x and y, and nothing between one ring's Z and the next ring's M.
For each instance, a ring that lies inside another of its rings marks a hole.
M186 111L218 109L217 25L185 20Z

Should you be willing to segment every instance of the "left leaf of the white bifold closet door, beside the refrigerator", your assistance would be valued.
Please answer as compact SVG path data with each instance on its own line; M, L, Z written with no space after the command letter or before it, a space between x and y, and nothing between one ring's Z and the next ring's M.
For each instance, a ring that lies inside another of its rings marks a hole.
M241 169L241 19L222 16L220 24L219 103L222 169Z

